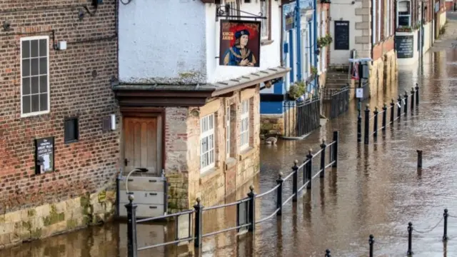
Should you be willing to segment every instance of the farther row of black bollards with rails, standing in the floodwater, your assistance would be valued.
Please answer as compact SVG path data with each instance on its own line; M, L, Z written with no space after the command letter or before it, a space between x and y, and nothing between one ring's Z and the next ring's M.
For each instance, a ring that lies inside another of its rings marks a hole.
M419 106L419 86L416 84L416 87L413 87L411 89L410 94L408 94L407 91L405 91L405 94L403 95L403 98L401 95L398 96L397 102L395 103L395 100L392 99L390 106L387 106L385 103L383 105L382 111L378 111L378 107L375 107L373 111L373 116L370 116L371 110L370 106L367 104L366 109L365 109L365 115L364 115L364 138L363 141L364 143L369 143L370 142L370 137L373 136L373 138L376 140L378 137L378 132L379 131L386 131L387 126L392 125L394 121L400 120L401 116L407 116L408 115L408 100L411 99L410 101L410 107L411 107L411 112L413 113L416 108ZM416 104L416 106L415 106ZM403 111L402 111L402 106L403 106ZM395 114L395 109L397 109L397 112ZM388 119L388 113L390 112L390 119ZM378 116L382 116L382 124L381 127L378 126ZM362 126L361 122L362 119L358 119L358 126L357 126L357 141L361 141L361 136L362 136ZM373 128L373 129L371 129ZM392 128L392 127L391 127Z

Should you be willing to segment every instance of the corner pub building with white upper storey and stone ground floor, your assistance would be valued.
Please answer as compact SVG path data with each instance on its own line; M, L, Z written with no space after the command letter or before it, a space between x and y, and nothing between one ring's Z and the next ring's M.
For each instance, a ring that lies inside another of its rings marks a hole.
M288 72L280 66L280 1L122 1L113 89L124 122L124 172L164 171L169 209L191 208L196 197L216 203L258 172L258 92ZM149 134L150 150L130 146Z

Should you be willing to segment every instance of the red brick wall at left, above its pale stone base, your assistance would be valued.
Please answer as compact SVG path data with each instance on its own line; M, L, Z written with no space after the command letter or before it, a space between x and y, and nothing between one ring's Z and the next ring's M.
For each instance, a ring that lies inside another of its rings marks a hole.
M95 12L91 0L0 2L1 21L11 21L12 28L0 31L0 213L76 197L114 181L118 132L102 132L101 119L117 112L109 84L117 76L115 3L105 0ZM83 21L79 10L86 14ZM67 50L53 50L51 30L56 42L67 41ZM46 35L51 111L21 118L19 42ZM64 119L70 116L79 116L79 141L64 144ZM34 138L47 136L55 137L55 171L35 175Z

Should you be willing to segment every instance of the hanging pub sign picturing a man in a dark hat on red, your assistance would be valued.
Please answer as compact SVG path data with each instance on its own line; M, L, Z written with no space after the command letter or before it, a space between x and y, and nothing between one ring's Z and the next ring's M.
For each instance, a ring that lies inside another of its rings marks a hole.
M219 65L260 66L261 21L221 21Z

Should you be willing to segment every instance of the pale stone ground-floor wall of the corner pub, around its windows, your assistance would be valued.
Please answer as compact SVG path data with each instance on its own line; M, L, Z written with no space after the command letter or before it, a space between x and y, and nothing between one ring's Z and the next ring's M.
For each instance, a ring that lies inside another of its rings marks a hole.
M241 101L250 101L250 143L240 151ZM230 106L230 155L226 155L226 109ZM190 115L199 109L199 117ZM200 171L200 119L214 114L215 167ZM200 197L211 206L236 191L259 171L259 86L211 99L205 106L166 109L166 168L169 211L189 209Z

